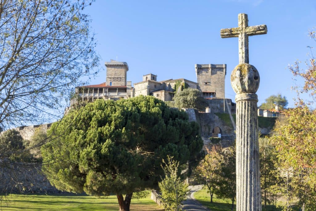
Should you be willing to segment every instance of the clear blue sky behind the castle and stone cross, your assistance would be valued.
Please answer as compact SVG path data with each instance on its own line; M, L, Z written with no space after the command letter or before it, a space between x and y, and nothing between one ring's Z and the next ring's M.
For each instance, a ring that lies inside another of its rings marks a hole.
M281 93L293 107L291 86L302 82L292 80L287 66L297 59L304 62L307 46L316 47L307 36L316 26L316 1L97 0L85 12L92 19L100 66L110 59L127 62L127 80L134 84L148 73L159 81L196 81L194 64L227 64L225 96L233 101L230 74L238 64L238 38L222 39L220 29L237 27L238 14L248 14L249 26L268 28L267 34L249 37L249 63L260 74L258 105ZM105 77L104 68L89 83L102 83Z

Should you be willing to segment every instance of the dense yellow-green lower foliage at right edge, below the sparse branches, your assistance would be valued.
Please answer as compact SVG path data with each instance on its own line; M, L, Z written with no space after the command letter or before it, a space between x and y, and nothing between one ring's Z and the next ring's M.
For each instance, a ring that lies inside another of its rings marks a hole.
M276 191L290 210L295 198L305 211L316 207L316 110L306 106L284 112L277 121L271 144L277 150L278 184ZM282 120L282 119L281 119Z

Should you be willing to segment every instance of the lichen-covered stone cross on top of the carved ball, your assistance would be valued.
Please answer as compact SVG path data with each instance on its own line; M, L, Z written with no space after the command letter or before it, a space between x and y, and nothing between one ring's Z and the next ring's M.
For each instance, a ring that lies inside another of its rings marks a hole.
M238 37L239 64L249 64L248 36L267 34L266 25L248 26L248 16L238 14L238 27L221 29L221 37Z

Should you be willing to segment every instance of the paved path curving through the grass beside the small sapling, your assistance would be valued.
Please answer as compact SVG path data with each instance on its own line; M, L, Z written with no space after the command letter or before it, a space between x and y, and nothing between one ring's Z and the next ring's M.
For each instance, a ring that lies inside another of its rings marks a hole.
M189 186L190 194L188 195L187 200L183 202L182 210L186 211L209 211L208 208L204 207L197 200L195 200L193 193L202 189L203 185L194 185Z

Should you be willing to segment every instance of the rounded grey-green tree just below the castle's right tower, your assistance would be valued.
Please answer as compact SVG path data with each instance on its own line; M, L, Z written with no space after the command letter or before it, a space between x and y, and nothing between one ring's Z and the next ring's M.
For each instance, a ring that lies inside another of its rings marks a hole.
M179 109L204 110L206 103L197 89L187 88L174 94L174 106Z

